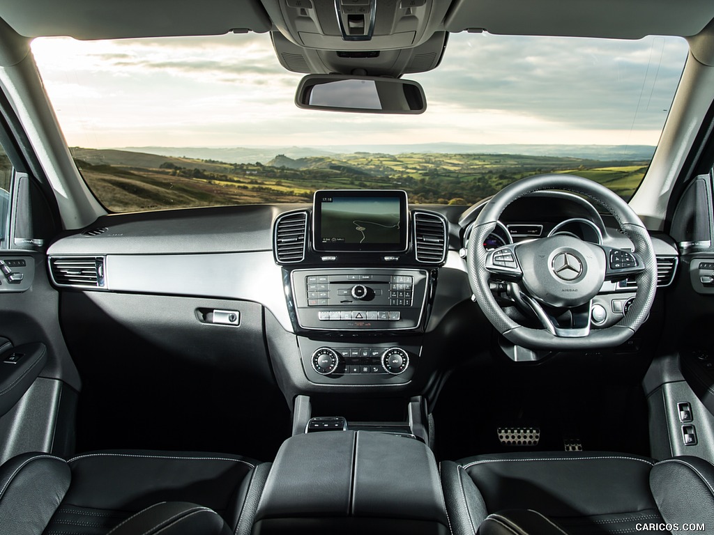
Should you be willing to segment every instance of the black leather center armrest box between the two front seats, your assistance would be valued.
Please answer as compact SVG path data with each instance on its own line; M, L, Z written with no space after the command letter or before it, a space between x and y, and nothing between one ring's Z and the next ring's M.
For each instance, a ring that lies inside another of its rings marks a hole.
M431 450L416 439L368 431L283 442L253 535L335 533L450 533Z

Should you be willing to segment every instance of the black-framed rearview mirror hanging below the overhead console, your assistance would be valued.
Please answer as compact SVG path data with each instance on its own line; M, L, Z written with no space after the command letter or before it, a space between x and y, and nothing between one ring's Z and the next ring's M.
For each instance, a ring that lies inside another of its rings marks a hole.
M295 94L298 108L355 113L424 113L426 97L415 81L380 76L308 74Z

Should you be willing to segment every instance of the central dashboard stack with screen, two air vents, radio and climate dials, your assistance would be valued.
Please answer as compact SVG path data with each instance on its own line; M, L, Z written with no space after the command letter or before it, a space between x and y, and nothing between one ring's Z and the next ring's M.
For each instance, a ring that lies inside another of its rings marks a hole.
M410 212L401 190L319 190L312 210L276 219L275 259L310 382L412 379L447 237L446 219Z

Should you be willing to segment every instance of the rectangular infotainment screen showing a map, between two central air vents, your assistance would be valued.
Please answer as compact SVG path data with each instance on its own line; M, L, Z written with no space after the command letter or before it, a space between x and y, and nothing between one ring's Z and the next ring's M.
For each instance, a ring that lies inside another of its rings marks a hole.
M407 250L407 200L401 190L318 190L313 245L318 251Z

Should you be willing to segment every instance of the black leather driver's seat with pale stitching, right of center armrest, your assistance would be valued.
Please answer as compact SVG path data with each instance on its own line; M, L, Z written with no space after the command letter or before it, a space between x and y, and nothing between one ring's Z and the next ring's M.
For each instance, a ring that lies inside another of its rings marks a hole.
M696 457L484 455L442 462L441 478L455 535L476 534L489 514L514 509L538 511L573 535L635 533L643 524L714 528L714 467Z

